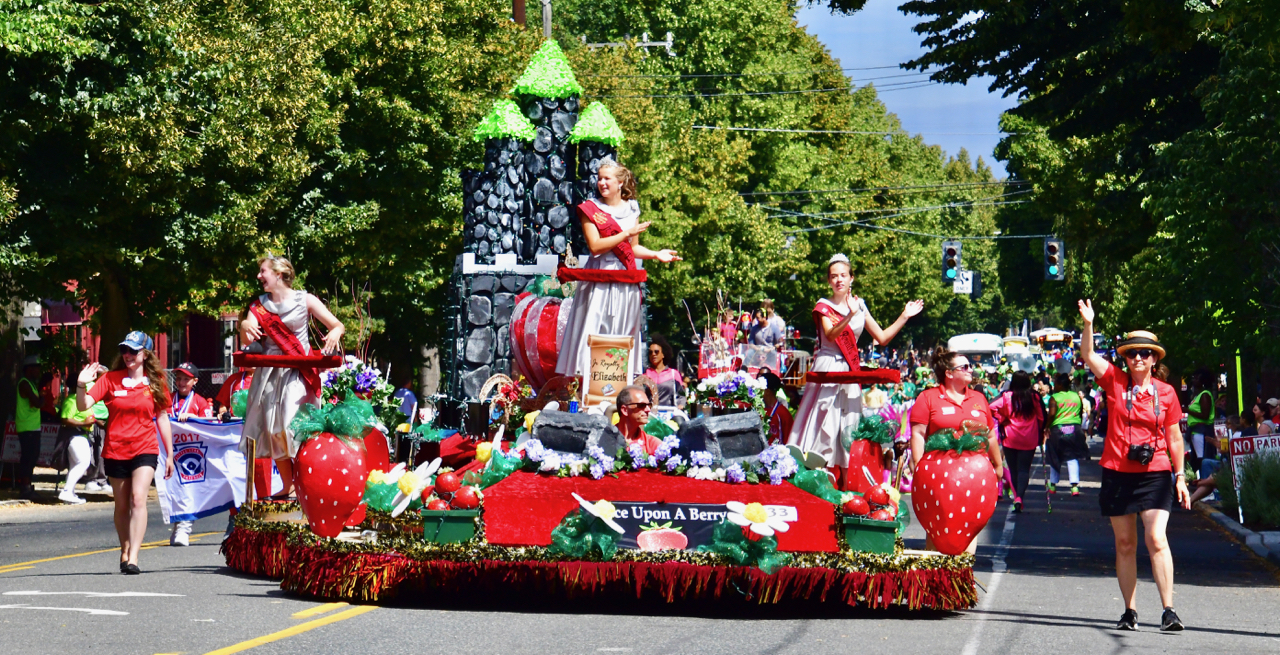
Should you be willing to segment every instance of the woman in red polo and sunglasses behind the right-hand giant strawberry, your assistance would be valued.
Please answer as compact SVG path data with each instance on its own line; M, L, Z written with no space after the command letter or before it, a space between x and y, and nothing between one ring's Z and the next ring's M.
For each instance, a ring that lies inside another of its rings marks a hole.
M929 359L933 368L933 377L938 385L920 391L911 407L911 471L919 466L924 457L924 440L938 430L960 430L965 421L986 423L989 434L987 436L987 457L996 470L996 478L1004 477L1004 463L1000 457L1000 439L996 432L996 420L987 407L987 397L982 391L969 388L973 381L973 366L969 358L937 348ZM933 537L928 536L924 548L933 550ZM973 553L978 548L978 539L969 544L966 549Z

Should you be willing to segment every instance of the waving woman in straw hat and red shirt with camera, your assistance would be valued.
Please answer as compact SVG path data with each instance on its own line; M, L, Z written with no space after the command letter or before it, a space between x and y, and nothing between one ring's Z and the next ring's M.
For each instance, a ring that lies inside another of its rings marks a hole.
M1180 631L1183 622L1174 612L1174 556L1169 550L1165 527L1178 504L1190 509L1190 494L1183 473L1183 434L1179 421L1183 409L1172 386L1153 372L1165 357L1165 347L1155 334L1132 331L1116 345L1126 371L1093 352L1093 304L1080 301L1084 330L1080 353L1106 393L1107 436L1102 446L1102 490L1098 504L1102 516L1111 518L1116 537L1116 580L1124 596L1125 612L1117 629L1138 629L1134 594L1138 586L1138 514L1151 554L1151 572L1160 590L1165 614L1161 631Z

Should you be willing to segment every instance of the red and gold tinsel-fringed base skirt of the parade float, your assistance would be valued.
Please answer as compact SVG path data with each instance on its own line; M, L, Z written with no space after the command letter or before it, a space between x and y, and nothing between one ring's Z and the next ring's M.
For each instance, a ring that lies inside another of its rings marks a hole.
M609 562L556 560L536 546L484 542L435 545L411 523L378 527L374 544L320 539L306 525L268 522L247 513L224 542L228 567L280 581L285 591L326 600L426 603L458 597L773 604L959 610L977 604L969 555L869 553L796 554L765 574L718 563L704 553L620 550Z

